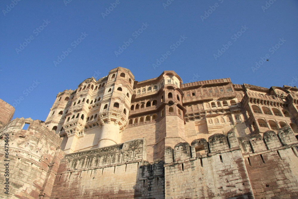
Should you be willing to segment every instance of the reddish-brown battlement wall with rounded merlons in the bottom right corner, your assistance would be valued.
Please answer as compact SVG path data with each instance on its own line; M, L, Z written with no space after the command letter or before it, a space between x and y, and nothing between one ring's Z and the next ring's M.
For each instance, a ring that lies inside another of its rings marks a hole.
M255 198L298 198L298 141L289 126L238 139Z

